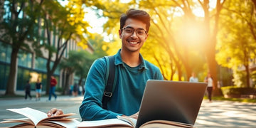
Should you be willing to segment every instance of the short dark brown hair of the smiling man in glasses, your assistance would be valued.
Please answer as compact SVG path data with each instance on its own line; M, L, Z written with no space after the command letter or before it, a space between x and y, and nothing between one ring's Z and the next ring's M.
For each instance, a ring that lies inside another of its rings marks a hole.
M146 23L146 31L149 32L150 26L150 16L146 11L137 10L137 9L129 9L126 14L122 14L120 17L120 30L124 27L125 21L127 18L136 18L143 23Z

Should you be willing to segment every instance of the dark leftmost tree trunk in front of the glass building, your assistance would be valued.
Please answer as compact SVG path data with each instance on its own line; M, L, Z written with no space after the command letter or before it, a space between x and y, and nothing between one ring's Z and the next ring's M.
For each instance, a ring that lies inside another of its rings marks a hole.
M11 63L10 63L10 72L9 78L7 81L5 95L15 95L15 81L16 81L16 72L18 69L17 65L18 49L12 48L11 50Z

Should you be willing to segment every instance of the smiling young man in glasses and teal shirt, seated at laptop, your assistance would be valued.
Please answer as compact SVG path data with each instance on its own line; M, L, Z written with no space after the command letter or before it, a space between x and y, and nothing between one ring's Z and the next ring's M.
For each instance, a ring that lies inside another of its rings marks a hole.
M146 81L163 80L159 68L144 60L139 53L148 37L150 16L146 11L129 9L120 18L119 38L122 48L114 55L116 84L107 109L102 108L102 96L107 79L105 58L95 60L85 83L85 96L80 106L80 116L85 120L116 118L117 115L137 118ZM57 111L57 112L56 112ZM52 109L48 115L62 111Z

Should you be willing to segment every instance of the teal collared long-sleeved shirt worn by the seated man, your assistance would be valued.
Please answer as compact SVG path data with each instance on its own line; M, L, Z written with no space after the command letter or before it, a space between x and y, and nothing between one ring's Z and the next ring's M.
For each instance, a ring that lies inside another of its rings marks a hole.
M116 84L107 110L102 109L102 96L107 83L107 63L99 58L92 64L85 82L85 95L80 106L80 116L86 120L116 118L117 115L132 115L139 111L147 80L163 80L159 68L144 60L137 67L122 61L120 50L114 55Z

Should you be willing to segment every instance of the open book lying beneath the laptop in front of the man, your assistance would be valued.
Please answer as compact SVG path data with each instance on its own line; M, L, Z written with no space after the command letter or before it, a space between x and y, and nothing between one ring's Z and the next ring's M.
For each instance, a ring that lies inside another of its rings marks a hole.
M78 128L95 128L95 127L130 127L134 128L136 126L137 119L130 117L117 116L115 119L103 119L96 121L83 121L78 124ZM171 122L167 120L152 120L142 124L139 128L149 128L149 127L164 127L164 128L193 128L190 124L183 124L180 122Z

